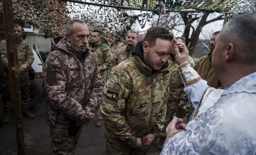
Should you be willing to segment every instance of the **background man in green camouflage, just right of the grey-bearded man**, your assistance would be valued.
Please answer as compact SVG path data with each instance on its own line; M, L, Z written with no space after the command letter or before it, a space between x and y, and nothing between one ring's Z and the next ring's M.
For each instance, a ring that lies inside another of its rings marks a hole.
M89 43L91 52L95 55L99 64L99 71L101 73L101 78L103 85L105 85L107 80L107 70L110 69L110 63L113 59L113 54L107 43L107 40L101 36L99 30L94 30L91 32L91 42ZM99 107L97 108L98 121L96 127L101 127L104 124L103 118Z

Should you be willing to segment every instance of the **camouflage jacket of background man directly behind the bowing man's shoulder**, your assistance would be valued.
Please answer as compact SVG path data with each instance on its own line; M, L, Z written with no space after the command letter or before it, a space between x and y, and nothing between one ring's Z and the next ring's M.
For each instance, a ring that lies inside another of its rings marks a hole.
M114 54L114 59L111 62L111 69L113 69L116 65L119 63L129 59L132 57L132 49L128 49L127 46L120 46L118 49L116 49L116 53Z

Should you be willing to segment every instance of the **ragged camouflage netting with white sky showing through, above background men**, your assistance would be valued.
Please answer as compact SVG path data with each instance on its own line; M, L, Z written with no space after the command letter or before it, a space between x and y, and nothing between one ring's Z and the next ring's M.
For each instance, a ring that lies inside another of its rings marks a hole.
M143 27L152 15L144 13L129 16L127 10L123 9L87 7L75 3L68 3L67 13L74 14L73 18L84 20L91 31L100 30L111 45L121 42L134 22L138 20Z

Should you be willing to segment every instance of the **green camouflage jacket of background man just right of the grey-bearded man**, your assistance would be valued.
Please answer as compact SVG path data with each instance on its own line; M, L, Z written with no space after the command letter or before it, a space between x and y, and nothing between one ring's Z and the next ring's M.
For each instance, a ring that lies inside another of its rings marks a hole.
M105 81L107 79L107 70L110 69L110 63L113 59L111 49L107 43L103 43L101 41L94 45L90 43L90 49L98 60L101 78Z

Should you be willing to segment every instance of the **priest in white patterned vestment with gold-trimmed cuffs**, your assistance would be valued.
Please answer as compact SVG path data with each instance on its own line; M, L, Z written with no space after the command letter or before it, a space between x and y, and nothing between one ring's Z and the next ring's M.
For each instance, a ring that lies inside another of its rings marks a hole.
M209 87L174 42L183 45L175 59L196 112L187 125L173 118L161 155L256 155L256 13L235 15L215 40L212 65L225 90Z

